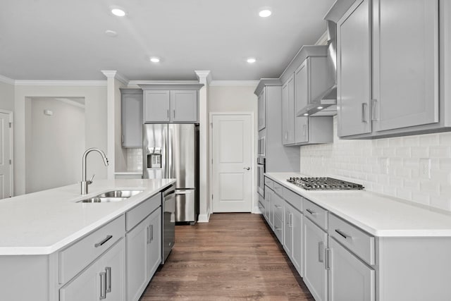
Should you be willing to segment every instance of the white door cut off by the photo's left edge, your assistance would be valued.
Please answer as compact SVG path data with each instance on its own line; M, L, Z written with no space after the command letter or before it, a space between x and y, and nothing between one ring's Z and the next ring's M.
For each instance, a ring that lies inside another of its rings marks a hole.
M0 112L0 199L12 196L10 113Z

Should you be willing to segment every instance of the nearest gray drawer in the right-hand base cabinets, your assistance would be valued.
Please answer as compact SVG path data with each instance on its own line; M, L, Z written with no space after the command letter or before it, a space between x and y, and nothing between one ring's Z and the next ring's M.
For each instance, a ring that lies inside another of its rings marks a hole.
M368 264L375 264L374 237L333 214L329 215L329 235Z

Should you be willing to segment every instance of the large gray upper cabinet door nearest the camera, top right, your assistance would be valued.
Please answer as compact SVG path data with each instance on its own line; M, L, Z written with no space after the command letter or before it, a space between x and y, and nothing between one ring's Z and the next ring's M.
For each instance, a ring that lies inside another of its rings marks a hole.
M437 123L438 0L374 0L373 43L374 130Z

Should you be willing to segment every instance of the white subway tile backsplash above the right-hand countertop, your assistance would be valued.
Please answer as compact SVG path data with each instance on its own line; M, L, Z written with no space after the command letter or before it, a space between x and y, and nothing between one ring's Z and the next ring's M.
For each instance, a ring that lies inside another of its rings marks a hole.
M431 159L431 179L420 176L421 158ZM334 142L301 147L300 165L309 176L353 180L369 191L451 211L451 133L340 140L334 118Z

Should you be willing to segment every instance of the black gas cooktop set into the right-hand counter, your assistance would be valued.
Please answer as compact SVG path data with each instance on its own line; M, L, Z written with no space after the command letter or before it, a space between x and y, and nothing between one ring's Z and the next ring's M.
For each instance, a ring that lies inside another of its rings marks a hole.
M305 190L362 190L360 184L338 180L335 178L288 178L288 182L298 185Z

